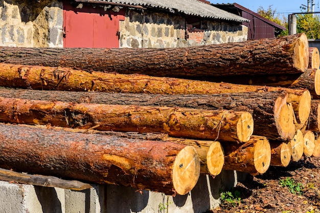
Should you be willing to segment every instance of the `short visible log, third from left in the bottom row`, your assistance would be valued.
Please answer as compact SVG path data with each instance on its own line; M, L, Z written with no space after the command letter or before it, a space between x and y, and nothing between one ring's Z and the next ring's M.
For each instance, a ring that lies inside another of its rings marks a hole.
M266 137L253 135L242 144L222 144L224 170L236 170L252 175L265 173L270 165L271 148Z

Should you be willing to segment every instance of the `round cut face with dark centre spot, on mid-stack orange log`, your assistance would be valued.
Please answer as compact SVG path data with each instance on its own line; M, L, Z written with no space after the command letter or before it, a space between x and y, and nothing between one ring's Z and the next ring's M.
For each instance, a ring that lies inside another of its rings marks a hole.
M254 120L249 112L243 112L237 123L237 136L240 141L247 142L254 132Z

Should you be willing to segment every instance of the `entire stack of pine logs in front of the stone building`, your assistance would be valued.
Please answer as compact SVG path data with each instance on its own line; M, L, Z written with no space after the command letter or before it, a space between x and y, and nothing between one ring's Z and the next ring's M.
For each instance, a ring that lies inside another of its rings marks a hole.
M319 52L305 34L0 58L4 169L185 195L199 174L320 156Z

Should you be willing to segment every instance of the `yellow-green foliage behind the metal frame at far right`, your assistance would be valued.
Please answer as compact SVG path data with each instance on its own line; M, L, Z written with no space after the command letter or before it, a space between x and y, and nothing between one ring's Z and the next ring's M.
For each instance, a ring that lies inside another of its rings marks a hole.
M320 38L320 18L312 14L296 15L296 32L305 33L308 38Z

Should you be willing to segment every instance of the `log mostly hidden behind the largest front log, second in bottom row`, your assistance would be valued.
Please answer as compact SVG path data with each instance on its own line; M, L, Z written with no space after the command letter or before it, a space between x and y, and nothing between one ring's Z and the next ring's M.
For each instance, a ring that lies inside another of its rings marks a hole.
M25 127L29 125L20 124L19 126ZM224 163L224 152L223 148L218 141L212 140L195 140L186 138L170 137L164 133L137 133L137 132L113 132L113 131L98 131L93 129L71 129L64 127L52 127L36 125L34 128L53 129L56 131L67 131L67 132L81 132L87 134L102 134L108 136L124 137L130 139L141 139L141 140L158 140L158 141L171 141L177 144L185 144L193 146L197 151L200 158L200 174L217 176L221 173Z

